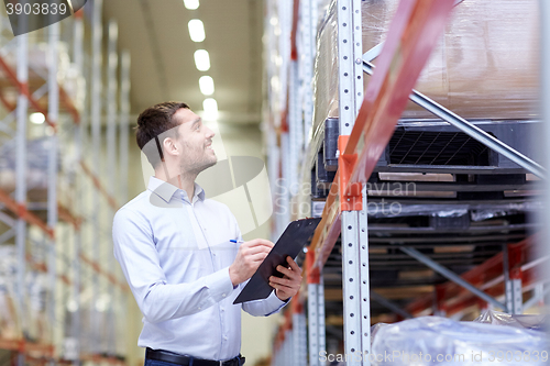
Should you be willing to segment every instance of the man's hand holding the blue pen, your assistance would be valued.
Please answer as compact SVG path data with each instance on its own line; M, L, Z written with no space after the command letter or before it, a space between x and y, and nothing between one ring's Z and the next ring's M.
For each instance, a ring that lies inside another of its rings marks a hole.
M241 244L235 260L229 266L229 277L233 286L244 282L254 275L273 245L265 239L254 239Z

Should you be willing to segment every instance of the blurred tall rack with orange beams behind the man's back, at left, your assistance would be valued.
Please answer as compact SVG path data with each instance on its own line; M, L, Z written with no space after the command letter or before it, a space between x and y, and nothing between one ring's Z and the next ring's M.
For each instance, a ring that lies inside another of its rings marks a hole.
M118 56L118 30L111 21L105 63L101 11L102 2L96 0L74 16L12 41L6 13L0 19L0 148L8 152L13 146L15 160L14 192L0 189L0 244L14 242L16 248L19 311L12 315L21 324L15 335L0 336L0 357L18 365L124 364L125 344L117 340L123 339L128 287L120 271L113 271L110 222L128 199L130 55ZM91 63L85 52L90 43L85 36L87 20L91 20ZM62 57L66 51L68 60ZM101 93L103 64L109 80L106 95ZM67 86L67 78L76 81ZM91 98L87 98L85 80L90 78ZM29 131L30 112L44 115L42 131L36 126ZM100 156L103 123L107 156ZM28 166L33 162L29 146L36 141L30 136L36 135L47 143L46 204L43 193L30 196L33 187L28 185ZM47 317L40 337L29 333L35 310L29 308L25 281L33 271L48 276L46 295L41 295L41 301L47 301Z

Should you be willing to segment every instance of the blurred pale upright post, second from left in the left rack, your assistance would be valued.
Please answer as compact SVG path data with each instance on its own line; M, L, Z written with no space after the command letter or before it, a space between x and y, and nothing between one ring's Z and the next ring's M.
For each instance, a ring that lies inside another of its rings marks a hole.
M48 107L47 117L52 123L58 122L59 117L59 85L57 84L57 44L59 43L59 23L48 26ZM56 277L57 277L57 252L54 236L54 230L57 225L57 133L54 131L50 136L50 149L47 156L47 226L52 230L48 237L48 275L51 288L51 299L48 318L52 331L55 334L56 326ZM62 318L63 320L63 318ZM61 323L63 324L63 323ZM62 325L63 328L63 325ZM55 336L52 337L55 344Z

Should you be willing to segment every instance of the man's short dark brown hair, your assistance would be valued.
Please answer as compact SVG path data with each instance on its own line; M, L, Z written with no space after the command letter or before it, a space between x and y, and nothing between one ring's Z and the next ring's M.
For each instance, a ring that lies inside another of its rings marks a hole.
M154 168L164 158L163 140L167 135L178 137L175 127L179 125L179 122L174 121L173 117L182 108L189 109L189 106L184 102L163 102L147 108L138 118L135 140Z

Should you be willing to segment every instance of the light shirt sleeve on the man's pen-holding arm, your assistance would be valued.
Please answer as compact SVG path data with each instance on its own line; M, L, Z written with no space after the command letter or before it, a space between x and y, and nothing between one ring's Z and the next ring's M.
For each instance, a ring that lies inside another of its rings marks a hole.
M153 231L139 212L122 209L114 215L114 257L145 320L157 323L197 313L233 291L229 267L193 282L167 284Z

